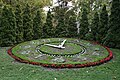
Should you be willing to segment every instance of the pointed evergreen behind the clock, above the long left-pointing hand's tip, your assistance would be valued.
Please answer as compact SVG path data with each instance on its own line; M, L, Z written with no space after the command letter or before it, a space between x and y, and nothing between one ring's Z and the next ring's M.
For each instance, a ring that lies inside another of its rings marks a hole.
M43 26L43 37L54 37L52 14L49 10L47 13L46 23Z

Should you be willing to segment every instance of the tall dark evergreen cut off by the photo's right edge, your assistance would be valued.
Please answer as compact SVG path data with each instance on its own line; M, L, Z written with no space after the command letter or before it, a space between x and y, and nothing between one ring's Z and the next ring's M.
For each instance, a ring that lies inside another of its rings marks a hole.
M120 0L112 1L109 31L104 38L104 45L120 48Z

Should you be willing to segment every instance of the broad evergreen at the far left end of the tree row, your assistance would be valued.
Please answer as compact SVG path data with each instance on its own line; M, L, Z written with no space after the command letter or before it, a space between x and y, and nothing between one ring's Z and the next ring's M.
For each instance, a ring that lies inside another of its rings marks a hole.
M1 46L11 46L16 43L15 15L12 8L4 6L1 17Z

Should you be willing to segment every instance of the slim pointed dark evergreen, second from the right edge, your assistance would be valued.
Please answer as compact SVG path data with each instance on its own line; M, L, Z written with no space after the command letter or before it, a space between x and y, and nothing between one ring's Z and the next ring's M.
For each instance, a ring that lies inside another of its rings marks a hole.
M97 37L99 38L97 41L102 43L103 38L107 34L108 31L108 13L106 11L106 6L104 5L102 8L102 11L100 13L100 25L98 27L98 35Z

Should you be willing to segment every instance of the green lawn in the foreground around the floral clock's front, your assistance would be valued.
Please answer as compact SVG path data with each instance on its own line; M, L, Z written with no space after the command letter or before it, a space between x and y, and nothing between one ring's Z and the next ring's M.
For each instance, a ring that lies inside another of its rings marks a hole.
M120 50L112 49L114 58L100 66L78 69L46 69L15 62L0 48L0 80L120 80Z

